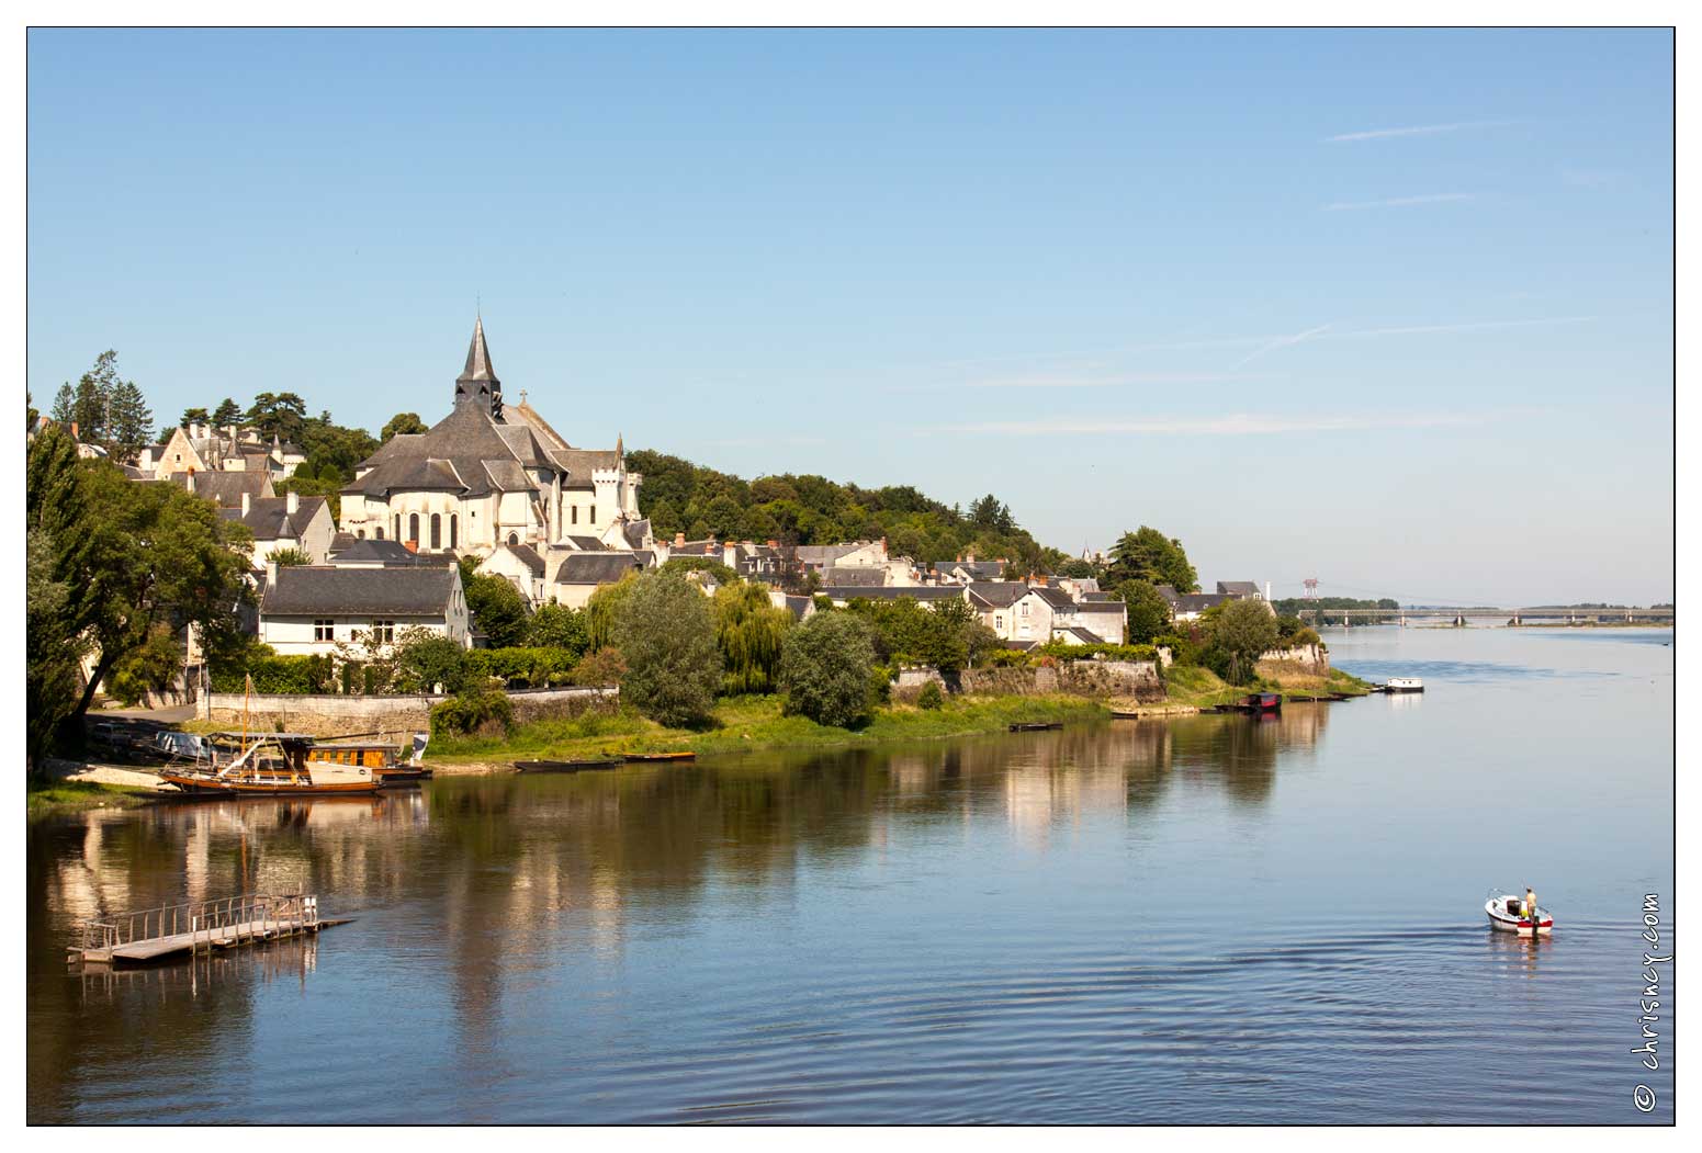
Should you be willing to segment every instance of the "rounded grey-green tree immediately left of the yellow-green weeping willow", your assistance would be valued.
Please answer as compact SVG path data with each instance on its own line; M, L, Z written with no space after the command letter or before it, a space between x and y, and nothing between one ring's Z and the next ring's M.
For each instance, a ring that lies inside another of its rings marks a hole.
M621 699L662 724L710 716L722 684L722 650L708 599L684 576L638 578L614 617L626 662Z

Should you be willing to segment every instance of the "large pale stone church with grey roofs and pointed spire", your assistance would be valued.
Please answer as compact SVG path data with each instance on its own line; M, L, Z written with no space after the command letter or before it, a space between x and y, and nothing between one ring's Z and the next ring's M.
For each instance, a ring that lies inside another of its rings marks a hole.
M420 553L490 556L531 549L648 549L643 476L623 442L575 449L526 403L505 406L485 321L473 323L454 408L429 432L393 435L342 490L344 532Z

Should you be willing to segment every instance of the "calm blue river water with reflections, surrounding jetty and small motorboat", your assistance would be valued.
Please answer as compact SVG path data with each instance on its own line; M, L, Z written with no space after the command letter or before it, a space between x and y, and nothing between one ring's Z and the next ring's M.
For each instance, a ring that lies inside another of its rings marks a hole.
M1430 692L32 825L29 1117L1670 1121L1671 633L1329 641ZM1537 946L1482 915L1525 883ZM66 973L300 888L357 920Z

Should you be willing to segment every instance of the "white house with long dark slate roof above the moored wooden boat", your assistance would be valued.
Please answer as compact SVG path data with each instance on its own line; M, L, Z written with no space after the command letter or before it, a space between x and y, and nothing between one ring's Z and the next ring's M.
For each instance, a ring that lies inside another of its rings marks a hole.
M260 641L279 655L328 655L339 643L386 646L414 628L471 646L460 568L266 566Z

